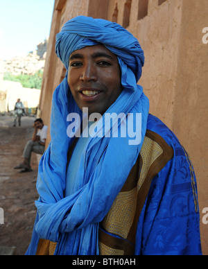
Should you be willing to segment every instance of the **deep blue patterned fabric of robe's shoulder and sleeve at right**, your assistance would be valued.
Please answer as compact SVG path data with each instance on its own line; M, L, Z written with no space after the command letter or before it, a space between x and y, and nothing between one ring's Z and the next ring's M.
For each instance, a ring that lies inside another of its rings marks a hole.
M159 134L174 157L153 178L137 225L135 254L200 255L200 214L196 177L175 134L155 116L147 130Z

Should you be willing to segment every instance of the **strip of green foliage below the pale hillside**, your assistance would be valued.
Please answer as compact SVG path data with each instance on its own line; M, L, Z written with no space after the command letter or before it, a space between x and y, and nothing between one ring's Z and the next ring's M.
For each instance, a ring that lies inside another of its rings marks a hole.
M42 76L42 70L37 71L34 75L21 74L19 76L14 76L12 73L6 72L3 80L19 82L24 88L41 89Z

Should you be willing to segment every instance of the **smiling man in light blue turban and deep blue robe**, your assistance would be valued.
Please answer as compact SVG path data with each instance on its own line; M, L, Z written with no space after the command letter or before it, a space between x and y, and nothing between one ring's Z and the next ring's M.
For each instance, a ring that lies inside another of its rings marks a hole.
M67 75L53 94L26 254L201 254L196 177L173 132L148 114L137 39L80 16L55 51Z

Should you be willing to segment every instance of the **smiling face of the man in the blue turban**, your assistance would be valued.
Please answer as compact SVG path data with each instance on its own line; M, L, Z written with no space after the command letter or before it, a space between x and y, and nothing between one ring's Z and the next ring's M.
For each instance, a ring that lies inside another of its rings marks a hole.
M80 110L104 114L122 92L118 59L103 45L86 46L69 58L68 83Z

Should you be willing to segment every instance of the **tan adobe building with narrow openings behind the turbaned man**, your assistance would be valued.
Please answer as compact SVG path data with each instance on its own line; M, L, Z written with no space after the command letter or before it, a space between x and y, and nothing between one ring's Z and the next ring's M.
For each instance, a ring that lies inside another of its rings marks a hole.
M202 42L208 1L55 0L39 112L47 125L53 91L66 73L55 55L55 35L77 15L116 21L138 38L146 56L139 84L150 99L150 113L175 132L191 156L202 214L208 207L208 44ZM202 216L202 247L208 254Z

